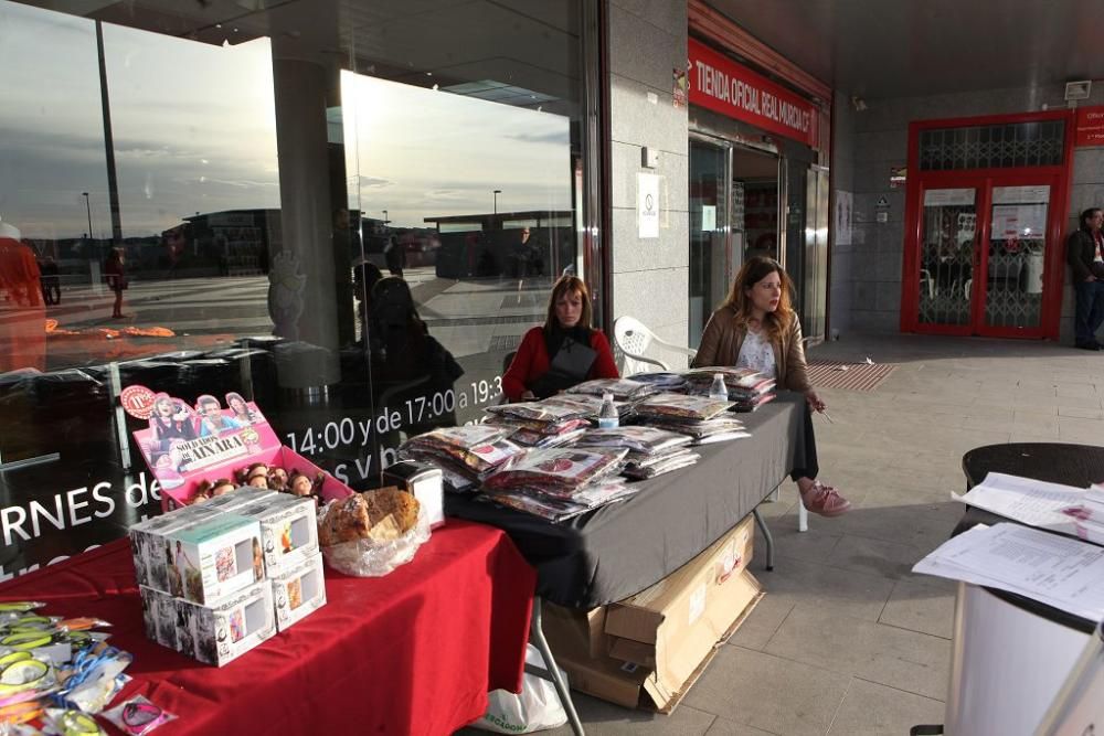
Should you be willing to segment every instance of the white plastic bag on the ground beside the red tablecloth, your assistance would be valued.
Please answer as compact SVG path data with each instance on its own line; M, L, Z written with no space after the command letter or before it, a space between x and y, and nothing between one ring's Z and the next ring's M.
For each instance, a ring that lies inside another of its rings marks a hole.
M487 713L470 724L473 728L496 734L531 734L534 730L556 728L567 723L567 714L560 703L551 680L532 674L545 672L544 658L532 644L526 650L526 675L521 680L521 694L508 690L492 690L487 694ZM567 682L567 674L560 670Z

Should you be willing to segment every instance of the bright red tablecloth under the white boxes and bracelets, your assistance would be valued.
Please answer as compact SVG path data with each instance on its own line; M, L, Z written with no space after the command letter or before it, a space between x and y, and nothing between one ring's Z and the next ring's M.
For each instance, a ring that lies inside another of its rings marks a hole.
M501 531L449 521L382 578L327 568L329 602L223 668L146 639L130 547L118 540L0 585L0 600L98 616L131 652L142 694L173 734L449 734L487 691L518 692L535 573Z

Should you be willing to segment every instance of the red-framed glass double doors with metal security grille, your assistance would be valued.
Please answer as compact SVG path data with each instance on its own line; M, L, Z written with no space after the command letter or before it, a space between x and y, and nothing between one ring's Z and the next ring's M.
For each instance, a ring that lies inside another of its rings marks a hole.
M902 330L1058 337L1069 118L1040 115L913 124Z

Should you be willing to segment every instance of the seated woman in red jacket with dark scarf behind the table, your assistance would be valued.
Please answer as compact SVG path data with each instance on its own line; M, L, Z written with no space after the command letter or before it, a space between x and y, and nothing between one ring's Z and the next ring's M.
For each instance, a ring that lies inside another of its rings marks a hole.
M526 333L502 376L511 402L545 398L591 378L617 378L609 341L591 328L591 294L582 279L563 276L552 287L544 327Z

